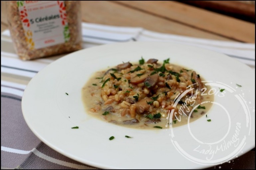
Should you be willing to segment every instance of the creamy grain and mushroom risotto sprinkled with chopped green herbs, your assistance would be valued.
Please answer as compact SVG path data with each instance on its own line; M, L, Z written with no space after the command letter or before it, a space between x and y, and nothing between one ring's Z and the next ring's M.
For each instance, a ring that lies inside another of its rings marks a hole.
M193 70L157 59L122 63L96 72L82 88L85 109L117 125L153 129L192 122L211 107L202 78Z

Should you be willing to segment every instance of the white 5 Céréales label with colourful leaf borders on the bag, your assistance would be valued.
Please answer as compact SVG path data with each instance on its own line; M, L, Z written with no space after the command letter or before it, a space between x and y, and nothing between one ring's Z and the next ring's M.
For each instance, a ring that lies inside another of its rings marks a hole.
M64 1L17 1L31 50L69 41Z

